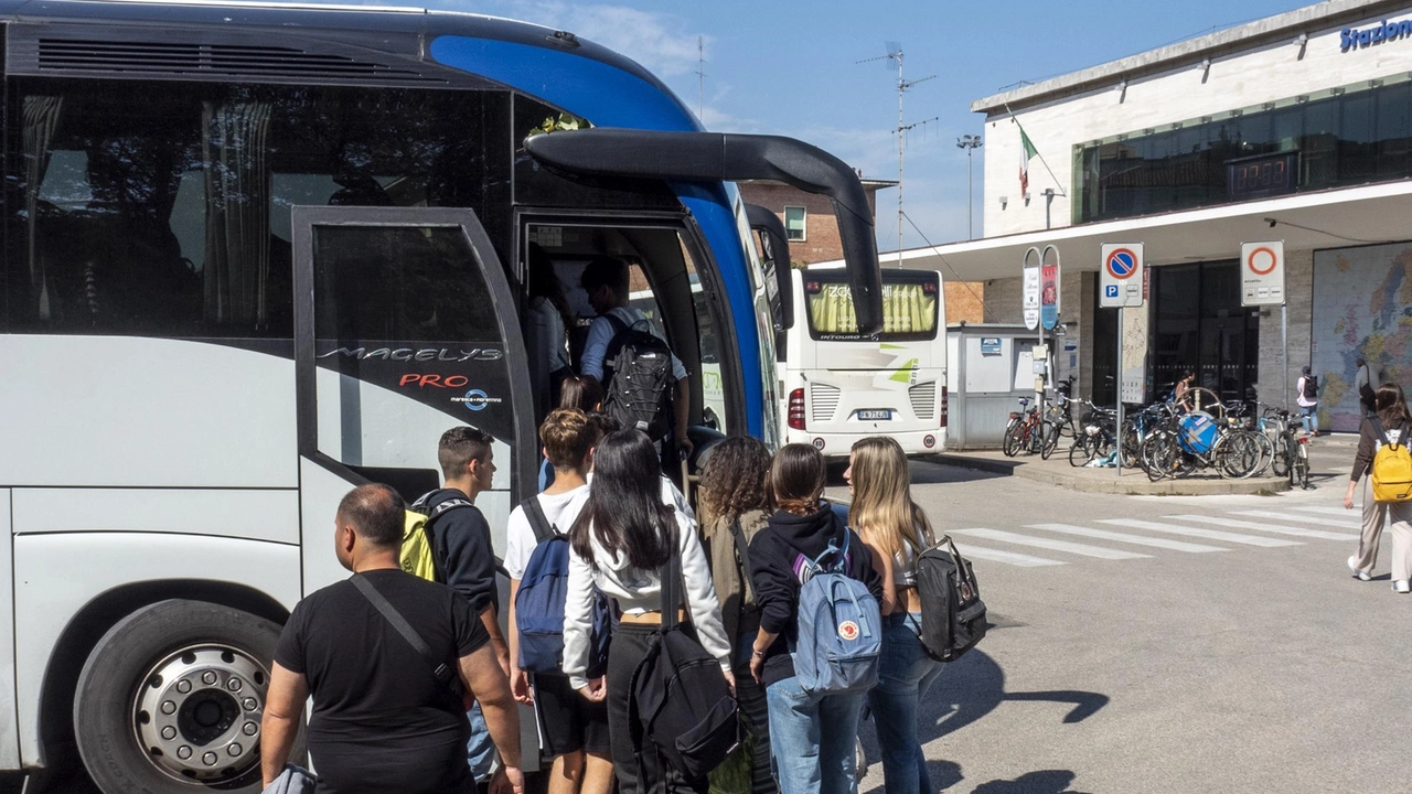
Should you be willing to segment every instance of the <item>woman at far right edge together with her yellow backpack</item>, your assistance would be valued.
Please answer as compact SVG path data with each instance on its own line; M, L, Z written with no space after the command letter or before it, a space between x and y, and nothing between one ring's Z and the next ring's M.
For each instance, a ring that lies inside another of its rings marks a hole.
M1408 413L1402 387L1384 383L1375 397L1377 411L1363 420L1358 429L1358 454L1353 459L1353 478L1343 494L1343 506L1353 510L1353 493L1368 475L1363 489L1363 535L1358 552L1348 558L1353 575L1367 582L1378 561L1382 521L1392 526L1392 589L1412 592L1412 413ZM1371 487L1367 487L1371 486ZM1371 492L1371 493L1370 493ZM1371 499L1370 499L1371 496Z

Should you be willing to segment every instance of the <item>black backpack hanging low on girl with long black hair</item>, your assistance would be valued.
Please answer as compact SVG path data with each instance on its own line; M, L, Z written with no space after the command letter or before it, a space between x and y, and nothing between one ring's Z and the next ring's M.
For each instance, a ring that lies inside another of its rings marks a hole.
M642 739L689 781L702 780L740 745L740 718L720 663L676 622L682 561L662 565L662 632L628 684L628 736L642 769Z

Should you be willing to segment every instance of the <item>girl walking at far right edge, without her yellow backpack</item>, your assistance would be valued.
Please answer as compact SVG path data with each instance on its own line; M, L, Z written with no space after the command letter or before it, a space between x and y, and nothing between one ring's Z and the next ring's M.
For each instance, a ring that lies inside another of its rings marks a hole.
M1353 458L1353 476L1343 494L1343 506L1353 510L1353 493L1363 479L1363 534L1358 537L1358 551L1348 558L1348 568L1364 582L1372 578L1372 567L1378 562L1382 521L1389 520L1392 521L1388 527L1392 533L1392 589L1405 593L1412 592L1412 504L1375 502L1368 493L1368 483L1372 479L1372 459L1384 439L1389 444L1412 441L1412 413L1408 413L1406 397L1396 383L1380 386L1374 400L1377 413L1364 418L1358 428L1358 452Z

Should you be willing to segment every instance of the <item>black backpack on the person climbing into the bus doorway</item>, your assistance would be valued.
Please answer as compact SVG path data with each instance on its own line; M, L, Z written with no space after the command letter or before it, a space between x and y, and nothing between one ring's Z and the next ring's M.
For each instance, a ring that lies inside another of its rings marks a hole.
M645 319L627 325L611 312L604 316L617 332L603 355L603 411L624 429L661 441L672 431L672 349Z

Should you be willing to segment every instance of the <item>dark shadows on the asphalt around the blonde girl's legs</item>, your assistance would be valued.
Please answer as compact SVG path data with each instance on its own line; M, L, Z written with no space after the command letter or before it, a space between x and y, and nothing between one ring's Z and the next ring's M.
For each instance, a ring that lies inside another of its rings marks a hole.
M925 747L933 740L942 739L984 718L1005 701L1060 704L1067 708L1063 711L1063 716L1058 718L1058 723L1072 725L1097 713L1103 706L1108 705L1108 699L1107 695L1100 692L1084 692L1080 689L1007 692L1005 672L1000 664L990 656L973 650L959 661L946 665L946 671L942 672L936 684L932 685L932 689L922 698L918 739ZM1043 711L1034 723L1043 726L1049 713L1049 709ZM868 766L878 764L881 770L882 762L873 721L867 721L867 726L860 733ZM933 747L929 754L945 752L945 747L940 752ZM931 773L932 784L943 790L964 780L960 766L949 760L929 759L928 771ZM1058 794L1066 791L1073 778L1075 773L1065 770L1034 771L1015 780L993 780L976 788L976 794ZM882 790L881 786L874 788L874 791Z

